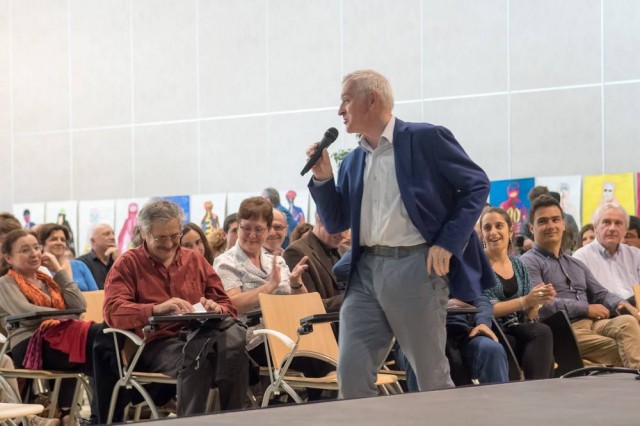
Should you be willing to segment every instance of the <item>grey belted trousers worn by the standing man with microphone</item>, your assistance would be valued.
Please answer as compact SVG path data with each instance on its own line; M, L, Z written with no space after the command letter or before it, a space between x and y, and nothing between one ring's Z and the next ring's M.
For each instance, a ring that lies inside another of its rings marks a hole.
M447 281L427 275L428 249L409 256L364 253L340 310L340 397L375 396L377 372L395 336L422 391L452 388L445 356Z

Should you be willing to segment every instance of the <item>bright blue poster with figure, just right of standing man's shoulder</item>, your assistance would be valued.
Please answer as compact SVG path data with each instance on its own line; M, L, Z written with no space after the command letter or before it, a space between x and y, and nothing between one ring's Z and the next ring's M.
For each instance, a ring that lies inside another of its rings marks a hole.
M507 211L513 221L513 232L519 234L522 225L529 220L527 194L534 186L534 178L507 179L491 182L489 203Z

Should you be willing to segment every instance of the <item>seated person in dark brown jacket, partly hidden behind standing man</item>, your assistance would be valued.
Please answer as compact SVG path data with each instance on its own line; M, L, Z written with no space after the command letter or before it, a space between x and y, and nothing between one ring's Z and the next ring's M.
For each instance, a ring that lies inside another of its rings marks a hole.
M340 260L338 246L342 242L342 232L330 234L320 217L316 214L316 223L311 232L289 244L283 257L289 268L293 269L307 257L309 266L302 274L302 282L309 292L318 292L327 312L337 312L342 305L344 286L333 275L333 265Z

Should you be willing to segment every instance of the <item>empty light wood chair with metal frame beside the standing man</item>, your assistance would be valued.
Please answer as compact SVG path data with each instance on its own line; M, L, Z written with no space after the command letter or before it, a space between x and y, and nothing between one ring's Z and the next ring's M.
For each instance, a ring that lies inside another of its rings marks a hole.
M338 343L330 322L316 317L305 321L301 326L301 319L325 314L320 295L260 294L259 298L266 328L255 330L254 333L265 336L271 379L271 384L264 392L262 406L268 406L271 395L280 392L286 392L296 403L302 403L302 398L294 388L338 390L335 371L324 377L314 378L289 370L293 359L302 356L338 365ZM335 319L335 316L330 318ZM378 374L376 385L383 394L399 388L397 378L390 374Z

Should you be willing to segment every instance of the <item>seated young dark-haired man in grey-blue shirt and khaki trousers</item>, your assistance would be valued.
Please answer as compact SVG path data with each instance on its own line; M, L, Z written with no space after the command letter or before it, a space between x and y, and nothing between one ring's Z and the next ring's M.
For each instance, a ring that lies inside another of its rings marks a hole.
M582 358L595 363L640 368L638 311L598 283L580 260L560 250L564 220L560 204L541 196L531 207L533 249L520 258L531 282L551 283L556 298L540 309L540 318L564 310L571 320ZM631 315L616 315L616 311Z

